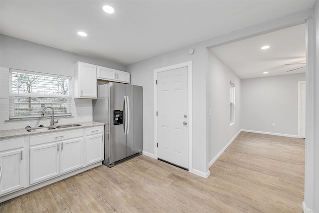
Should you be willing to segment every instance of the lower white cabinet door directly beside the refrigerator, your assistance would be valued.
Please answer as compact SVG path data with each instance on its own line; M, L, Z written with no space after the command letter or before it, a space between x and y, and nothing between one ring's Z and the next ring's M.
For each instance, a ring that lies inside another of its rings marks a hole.
M86 165L104 160L103 134L86 137Z

